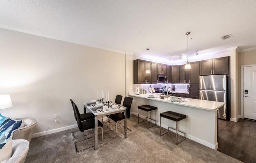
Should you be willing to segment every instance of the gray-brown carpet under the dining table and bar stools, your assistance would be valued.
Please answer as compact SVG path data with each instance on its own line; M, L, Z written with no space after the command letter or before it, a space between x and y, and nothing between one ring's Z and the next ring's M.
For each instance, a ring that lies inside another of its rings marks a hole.
M77 128L33 138L25 163L241 163L190 139L175 145L174 132L160 137L159 126L146 129L146 122L137 124L134 115L128 120L128 127L132 132L124 139L124 136L115 138L115 131L108 131L104 125L103 143L97 151L90 148L75 152L74 142L83 139L73 140L71 132ZM118 129L119 134L123 130ZM78 132L75 136L80 134L84 133ZM93 130L87 134L93 136ZM101 136L98 138L100 141ZM93 141L91 138L79 143L78 148L88 147Z

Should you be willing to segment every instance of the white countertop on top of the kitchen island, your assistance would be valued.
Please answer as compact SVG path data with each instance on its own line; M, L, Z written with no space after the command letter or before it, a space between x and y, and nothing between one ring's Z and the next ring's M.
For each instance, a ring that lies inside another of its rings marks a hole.
M148 98L149 95L154 95L157 98ZM147 93L147 94L139 94L139 95L129 93L129 96L134 96L134 97L139 97L139 98L146 98L148 100L161 101L161 102L172 103L172 104L176 104L176 105L183 105L183 106L195 107L195 108L198 108L198 109L212 110L212 111L218 110L218 108L220 108L220 107L222 107L223 105L226 104L224 102L197 100L197 99L192 99L192 98L187 98L188 101L185 101L185 102L172 102L172 101L166 100L166 98L161 100L159 98L159 93L154 93L154 94Z

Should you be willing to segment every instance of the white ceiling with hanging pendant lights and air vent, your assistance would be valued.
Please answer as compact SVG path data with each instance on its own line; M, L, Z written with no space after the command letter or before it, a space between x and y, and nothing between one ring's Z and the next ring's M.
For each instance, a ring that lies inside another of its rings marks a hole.
M0 1L2 28L162 62L187 51L186 32L190 60L256 47L255 16L255 0Z

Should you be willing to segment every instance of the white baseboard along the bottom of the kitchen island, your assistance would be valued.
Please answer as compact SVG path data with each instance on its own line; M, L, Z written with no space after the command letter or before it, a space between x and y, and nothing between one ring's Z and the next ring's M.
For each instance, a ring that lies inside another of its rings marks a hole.
M131 114L133 114L133 115L135 115L135 116L138 116L138 114L137 114L136 112L131 112ZM139 117L145 119L145 116L139 115ZM150 120L149 120L149 121L150 121ZM155 123L154 121L151 121L151 122L152 122L152 123ZM157 122L157 125L160 126L160 122ZM165 129L168 129L168 126L167 126L167 125L164 125L164 124L161 124L161 127L165 128ZM176 130L170 129L170 131L176 133ZM184 134L181 133L181 132L178 132L178 134L181 135L181 136L184 136ZM211 144L211 143L208 143L208 142L206 142L206 141L204 141L204 140L201 140L201 139L198 139L198 138L196 138L196 137L194 137L194 136L191 136L191 135L189 135L189 134L186 134L186 138L188 138L188 139L190 139L190 140L193 140L193 141L196 141L197 143L200 143L200 144L202 144L202 145L205 145L206 147L209 147L209 148L211 148L211 149L214 149L214 150L218 149L218 142L216 142L216 144Z

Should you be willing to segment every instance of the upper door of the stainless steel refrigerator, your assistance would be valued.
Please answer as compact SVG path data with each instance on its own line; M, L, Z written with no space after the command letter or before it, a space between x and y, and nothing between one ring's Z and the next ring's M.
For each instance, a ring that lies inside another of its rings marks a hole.
M199 76L199 80L200 80L199 89L226 91L226 86L227 86L226 75Z

